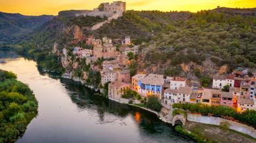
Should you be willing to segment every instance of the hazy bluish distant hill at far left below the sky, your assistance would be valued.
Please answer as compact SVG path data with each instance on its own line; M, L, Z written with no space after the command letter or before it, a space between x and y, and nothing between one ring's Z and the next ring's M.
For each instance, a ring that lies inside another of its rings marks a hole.
M0 44L16 42L52 18L51 15L24 16L0 12Z

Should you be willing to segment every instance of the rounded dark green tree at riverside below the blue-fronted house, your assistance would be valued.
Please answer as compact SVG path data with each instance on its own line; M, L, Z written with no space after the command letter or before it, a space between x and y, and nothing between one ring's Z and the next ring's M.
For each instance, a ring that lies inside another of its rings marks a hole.
M162 109L162 104L158 100L157 96L148 96L148 100L146 101L146 107L154 111L160 112Z

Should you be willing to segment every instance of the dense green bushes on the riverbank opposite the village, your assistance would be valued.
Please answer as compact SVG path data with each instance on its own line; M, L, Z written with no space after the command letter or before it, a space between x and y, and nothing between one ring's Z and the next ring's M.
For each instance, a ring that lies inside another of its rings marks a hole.
M0 142L15 142L38 113L38 101L13 72L0 70Z

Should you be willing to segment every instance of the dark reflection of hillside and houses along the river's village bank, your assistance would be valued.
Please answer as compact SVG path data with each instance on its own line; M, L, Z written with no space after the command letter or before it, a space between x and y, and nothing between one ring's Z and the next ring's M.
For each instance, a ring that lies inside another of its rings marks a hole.
M160 121L155 115L152 115L152 113L97 96L92 90L84 88L84 86L77 82L73 82L72 80L62 79L61 82L65 84L65 87L69 91L71 91L69 95L71 100L77 104L77 107L81 110L86 109L90 111L90 113L96 111L101 122L108 123L108 121L110 121L108 118L112 118L109 114L118 117L127 117L128 115L131 115L133 120L143 127L143 130L147 130L147 132L150 133L158 132L156 128ZM157 122L154 123L153 121Z

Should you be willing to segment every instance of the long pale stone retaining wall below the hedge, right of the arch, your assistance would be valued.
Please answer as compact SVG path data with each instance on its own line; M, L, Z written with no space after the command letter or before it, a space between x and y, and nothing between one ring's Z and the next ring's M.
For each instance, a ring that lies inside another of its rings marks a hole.
M188 113L187 121L217 125L217 126L219 126L220 123L225 122L225 123L229 123L230 125L229 129L236 130L237 132L241 132L243 134L247 134L249 136L252 136L253 138L256 138L256 130L253 129L252 127L248 127L241 123L229 121L229 120L218 118L218 117L208 117L208 116L195 115L195 114Z

